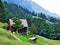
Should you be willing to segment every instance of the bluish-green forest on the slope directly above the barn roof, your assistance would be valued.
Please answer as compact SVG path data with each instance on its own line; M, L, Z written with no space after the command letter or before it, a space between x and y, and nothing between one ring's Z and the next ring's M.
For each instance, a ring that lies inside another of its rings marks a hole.
M22 8L13 3L4 2L5 7L8 9L9 13L11 14L10 17L17 17L17 18L26 18L27 14L30 14L27 9Z

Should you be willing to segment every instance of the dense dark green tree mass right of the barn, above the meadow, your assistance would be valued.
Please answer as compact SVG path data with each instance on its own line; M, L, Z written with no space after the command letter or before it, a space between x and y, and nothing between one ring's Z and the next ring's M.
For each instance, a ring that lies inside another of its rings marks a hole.
M50 39L57 38L56 30L54 27L55 25L52 22L49 22L45 19L41 19L38 17L34 17L30 14L27 16L27 20L28 20L29 26L31 27L29 28L31 33L33 32L35 34L42 35ZM32 26L32 23L34 23L34 25L37 27L36 31L34 31L36 27L34 28L34 26Z

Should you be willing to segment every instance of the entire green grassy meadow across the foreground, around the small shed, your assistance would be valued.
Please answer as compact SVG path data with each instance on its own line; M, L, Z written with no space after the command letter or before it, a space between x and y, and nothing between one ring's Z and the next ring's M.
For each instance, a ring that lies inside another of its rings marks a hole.
M18 37L18 38L17 38ZM37 42L30 43L30 36L12 34L0 28L0 45L60 45L60 41L50 40L41 36L36 36Z

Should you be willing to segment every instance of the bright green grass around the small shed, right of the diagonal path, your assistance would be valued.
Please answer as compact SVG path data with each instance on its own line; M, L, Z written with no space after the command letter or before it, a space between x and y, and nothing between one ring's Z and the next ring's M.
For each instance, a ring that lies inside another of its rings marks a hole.
M20 38L24 43L29 43L29 45L60 45L60 41L58 40L50 40L42 36L36 35L37 42L36 43L30 43L29 38L31 38L30 35L21 35L21 34L15 34L18 38Z

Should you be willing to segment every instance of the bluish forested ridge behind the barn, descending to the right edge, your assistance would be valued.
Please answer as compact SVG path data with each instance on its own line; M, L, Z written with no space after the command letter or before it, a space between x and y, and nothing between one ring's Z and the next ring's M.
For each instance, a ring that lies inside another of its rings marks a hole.
M26 18L28 14L31 14L32 16L36 16L36 17L38 16L40 18L49 20L54 23L60 22L60 20L56 19L55 17L50 17L50 16L47 17L46 14L43 12L36 14L34 11L31 12L27 8L24 8L20 5L17 5L17 4L11 3L11 2L6 2L6 1L4 1L3 3L4 3L5 8L7 8L8 12L10 14L10 18L12 18L12 17Z

